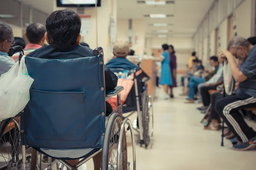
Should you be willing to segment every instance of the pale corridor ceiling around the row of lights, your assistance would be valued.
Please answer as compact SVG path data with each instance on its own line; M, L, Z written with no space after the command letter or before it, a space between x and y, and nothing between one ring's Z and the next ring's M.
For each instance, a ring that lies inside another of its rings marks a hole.
M117 17L122 19L143 19L146 24L146 36L156 37L166 34L168 37L192 37L214 0L174 0L168 5L146 5L137 0L118 0ZM173 17L154 19L144 17L149 14L173 14ZM153 23L167 23L172 26L156 27ZM157 33L168 30L168 33Z

